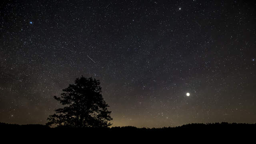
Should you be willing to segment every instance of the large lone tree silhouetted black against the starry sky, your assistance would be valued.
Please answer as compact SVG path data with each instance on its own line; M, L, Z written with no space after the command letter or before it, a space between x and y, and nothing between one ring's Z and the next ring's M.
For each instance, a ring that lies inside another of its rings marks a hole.
M63 89L60 97L54 96L64 108L55 110L46 125L75 128L111 126L108 104L102 98L100 81L95 78L76 78L74 84Z

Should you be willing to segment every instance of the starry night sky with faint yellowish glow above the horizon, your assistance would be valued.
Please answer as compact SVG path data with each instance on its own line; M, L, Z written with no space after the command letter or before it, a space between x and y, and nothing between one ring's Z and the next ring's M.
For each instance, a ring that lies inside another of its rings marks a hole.
M4 0L0 22L0 122L45 124L83 75L113 126L256 123L254 0Z

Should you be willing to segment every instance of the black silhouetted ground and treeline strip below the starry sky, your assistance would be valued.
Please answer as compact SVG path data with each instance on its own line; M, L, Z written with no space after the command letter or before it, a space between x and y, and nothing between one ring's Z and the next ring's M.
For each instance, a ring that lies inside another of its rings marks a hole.
M256 124L186 124L174 128L49 128L0 123L0 138L18 143L254 143ZM0 141L1 142L1 141Z

